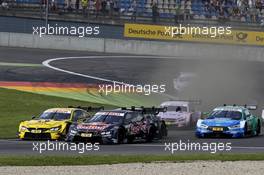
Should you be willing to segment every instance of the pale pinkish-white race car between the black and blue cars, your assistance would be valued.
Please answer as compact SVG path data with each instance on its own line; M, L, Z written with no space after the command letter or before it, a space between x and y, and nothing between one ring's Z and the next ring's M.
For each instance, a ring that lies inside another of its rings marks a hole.
M202 113L195 111L195 104L192 101L166 101L160 106L165 107L165 112L160 112L158 116L165 121L166 125L176 127L195 126L197 120L201 118Z

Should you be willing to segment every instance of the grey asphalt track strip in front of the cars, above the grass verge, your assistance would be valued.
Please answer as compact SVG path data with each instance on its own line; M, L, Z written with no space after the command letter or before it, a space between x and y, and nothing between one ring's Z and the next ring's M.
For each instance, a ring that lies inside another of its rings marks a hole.
M61 150L55 149L55 146L48 150L47 141L21 141L17 139L0 140L0 155L78 155L78 154L91 154L91 155L142 155L142 154L188 154L188 153L260 153L264 152L263 147L264 136L258 137L246 137L241 139L227 139L227 138L206 138L198 139L194 136L193 130L173 129L169 130L168 137L163 140L154 140L152 143L136 142L133 144L121 144L121 145L100 145L99 150L95 151L82 151L82 147L78 149ZM40 144L43 146L40 148ZM54 141L52 143L58 144ZM206 144L209 145L208 150L193 150L188 149L187 145L182 145L180 150L180 143L193 143L193 144ZM215 144L223 143L230 144L231 150L218 150L215 148ZM35 149L34 144L37 144ZM44 144L46 146L44 146ZM170 145L170 149L165 146ZM174 144L174 151L172 152L172 144ZM210 146L211 145L211 146ZM178 146L178 147L177 147ZM54 149L53 149L54 148ZM42 149L42 151L40 151Z

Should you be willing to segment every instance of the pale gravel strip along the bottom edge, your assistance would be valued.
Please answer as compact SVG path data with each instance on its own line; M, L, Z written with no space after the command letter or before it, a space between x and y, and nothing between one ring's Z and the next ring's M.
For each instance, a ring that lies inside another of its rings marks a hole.
M0 175L263 175L264 161L158 162L88 166L3 166Z

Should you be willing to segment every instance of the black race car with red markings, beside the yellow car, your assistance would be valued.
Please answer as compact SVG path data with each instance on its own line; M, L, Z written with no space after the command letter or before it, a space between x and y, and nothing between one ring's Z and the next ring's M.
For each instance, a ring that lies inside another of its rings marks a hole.
M132 143L167 136L167 127L156 115L164 108L120 108L97 112L81 124L71 125L66 141Z

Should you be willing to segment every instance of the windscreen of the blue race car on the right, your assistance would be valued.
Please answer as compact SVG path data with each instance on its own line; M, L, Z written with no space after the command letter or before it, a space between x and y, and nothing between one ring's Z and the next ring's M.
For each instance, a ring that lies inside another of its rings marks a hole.
M242 113L239 111L216 110L209 115L208 119L215 118L229 118L232 120L240 120L242 118Z

